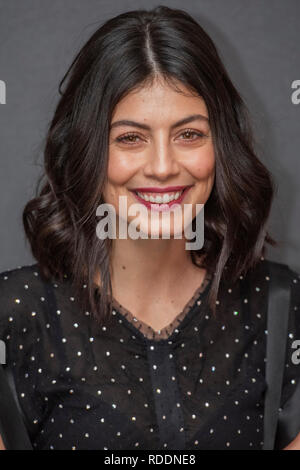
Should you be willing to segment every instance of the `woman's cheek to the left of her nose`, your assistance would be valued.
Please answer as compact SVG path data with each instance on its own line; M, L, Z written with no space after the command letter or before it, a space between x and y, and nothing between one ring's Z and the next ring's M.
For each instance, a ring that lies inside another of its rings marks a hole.
M111 152L108 160L108 181L113 185L125 184L135 173L136 168L132 158Z

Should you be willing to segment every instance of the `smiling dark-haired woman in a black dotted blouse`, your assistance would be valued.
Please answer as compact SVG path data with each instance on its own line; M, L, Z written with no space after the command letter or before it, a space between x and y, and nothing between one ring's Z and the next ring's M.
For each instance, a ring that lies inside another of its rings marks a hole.
M124 13L93 34L60 93L45 181L24 210L37 263L1 275L0 331L33 447L261 449L273 185L212 40L182 10ZM99 237L97 207L110 204L119 228L120 196L144 237ZM176 237L179 212L164 237L174 199L194 229L205 206L200 249ZM284 408L300 292L282 270ZM293 438L279 448L300 448Z

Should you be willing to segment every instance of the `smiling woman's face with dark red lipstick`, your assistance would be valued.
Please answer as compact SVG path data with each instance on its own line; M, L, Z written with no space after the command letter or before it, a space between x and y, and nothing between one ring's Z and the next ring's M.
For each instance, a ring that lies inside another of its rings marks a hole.
M149 238L154 232L161 236L166 231L162 216L167 213L170 236L174 236L178 222L182 234L187 225L186 219L180 225L183 206L189 204L195 217L200 210L196 204L206 203L214 182L214 148L205 102L183 84L177 84L185 95L160 81L129 93L117 104L111 120L104 201L114 206L118 216L119 197L125 196L127 224L133 223ZM185 122L180 123L182 120ZM181 196L180 189L165 189L170 186L189 189ZM134 192L137 188L139 195ZM153 188L163 192L156 193ZM163 199L156 199L158 195ZM179 196L174 206L177 212L171 210L174 200L169 201L167 195L170 199ZM159 201L165 203L164 211ZM130 215L128 210L133 204L143 212ZM156 219L151 225L153 215Z

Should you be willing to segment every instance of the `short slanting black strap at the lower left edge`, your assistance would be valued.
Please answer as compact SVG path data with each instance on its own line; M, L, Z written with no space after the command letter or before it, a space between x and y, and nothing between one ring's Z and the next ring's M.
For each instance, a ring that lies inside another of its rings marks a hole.
M8 371L0 364L0 434L6 450L32 450L32 445L8 382ZM11 371L9 371L11 373Z

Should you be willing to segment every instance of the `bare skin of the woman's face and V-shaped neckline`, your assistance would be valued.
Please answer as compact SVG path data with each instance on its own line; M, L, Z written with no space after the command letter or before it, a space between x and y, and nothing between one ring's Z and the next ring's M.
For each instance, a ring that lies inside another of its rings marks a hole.
M211 193L215 157L208 111L201 97L182 84L179 87L186 95L157 80L151 87L128 94L114 110L113 125L131 120L149 126L149 130L124 124L111 128L104 200L117 214L119 196L127 196L128 207L137 203L130 192L136 187L192 185L184 203L192 204L193 210L197 203L205 204ZM174 123L196 114L203 117L172 129ZM129 132L131 141L116 140ZM144 222L142 231L146 231ZM160 226L160 234L162 230ZM204 279L204 269L193 265L185 243L184 236L113 240L113 295L155 330L171 323Z

